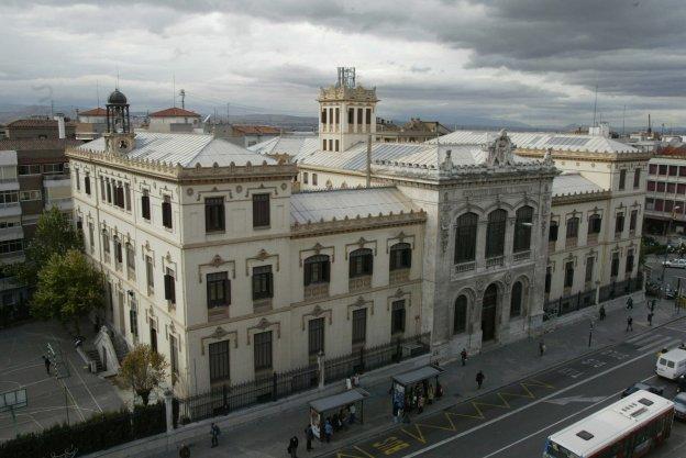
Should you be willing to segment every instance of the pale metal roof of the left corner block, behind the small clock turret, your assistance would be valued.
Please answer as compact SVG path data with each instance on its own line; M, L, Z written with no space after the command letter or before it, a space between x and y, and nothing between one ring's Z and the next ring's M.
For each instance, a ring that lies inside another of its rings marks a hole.
M104 137L93 139L78 146L81 150L104 153ZM130 158L148 159L169 164L180 164L182 167L212 167L217 164L225 167L233 163L244 166L246 163L259 165L263 161L276 164L276 160L261 156L239 145L208 134L163 134L153 132L136 132L135 147L126 154Z

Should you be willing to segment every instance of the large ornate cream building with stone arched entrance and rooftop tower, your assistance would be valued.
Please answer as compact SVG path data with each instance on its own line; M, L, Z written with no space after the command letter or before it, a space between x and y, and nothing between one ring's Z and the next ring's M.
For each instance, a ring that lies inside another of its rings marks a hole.
M133 133L115 91L107 135L67 153L106 319L167 356L177 393L420 336L436 357L479 351L635 277L644 154L556 134L368 142L376 91L346 70L319 100L319 137L247 150Z

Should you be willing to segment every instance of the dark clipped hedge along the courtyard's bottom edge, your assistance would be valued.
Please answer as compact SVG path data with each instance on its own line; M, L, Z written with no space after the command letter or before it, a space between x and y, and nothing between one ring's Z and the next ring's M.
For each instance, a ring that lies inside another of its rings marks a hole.
M78 457L166 429L164 402L136 405L133 412L122 409L93 415L85 422L22 434L0 444L0 458L51 458L52 454L59 456L71 448L78 449Z

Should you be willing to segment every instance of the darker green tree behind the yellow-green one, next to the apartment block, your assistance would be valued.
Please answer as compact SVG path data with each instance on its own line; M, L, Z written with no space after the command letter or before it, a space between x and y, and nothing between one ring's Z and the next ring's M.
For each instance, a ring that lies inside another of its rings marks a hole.
M53 206L38 216L35 234L24 248L25 261L10 266L9 273L22 283L33 286L38 280L38 271L55 253L65 254L70 249L82 248L80 232L64 213Z

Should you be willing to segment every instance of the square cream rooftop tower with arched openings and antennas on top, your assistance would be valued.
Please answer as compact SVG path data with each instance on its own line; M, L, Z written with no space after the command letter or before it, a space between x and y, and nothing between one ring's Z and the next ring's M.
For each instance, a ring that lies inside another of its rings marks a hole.
M334 86L320 88L319 142L325 152L344 152L376 134L376 88L355 81L354 67L339 67Z

